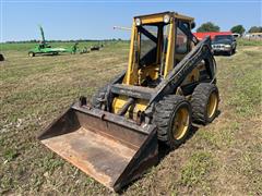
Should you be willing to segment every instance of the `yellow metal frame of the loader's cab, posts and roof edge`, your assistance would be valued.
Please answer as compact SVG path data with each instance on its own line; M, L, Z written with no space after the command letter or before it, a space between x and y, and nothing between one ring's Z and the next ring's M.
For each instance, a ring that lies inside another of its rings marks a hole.
M134 17L133 20L133 25L132 25L132 35L131 35L131 42L130 42L130 53L129 53L129 66L128 66L128 72L127 75L124 76L123 83L127 85L140 85L141 79L145 78L147 75L150 75L152 78L157 78L157 72L155 71L155 68L148 68L143 69L143 70L139 70L139 65L136 62L134 62L135 59L135 49L138 50L138 53L140 53L140 35L138 33L138 28L135 26L135 19L140 19L142 25L144 24L154 24L154 23L162 23L164 21L164 16L166 14L169 14L170 16L170 30L169 30L169 35L168 35L168 46L167 46L167 53L166 53L166 64L165 64L165 69L164 69L164 77L167 76L167 74L174 69L174 59L177 60L181 60L184 54L176 54L175 53L175 35L176 35L176 25L175 25L175 19L179 19L179 20L183 20L187 21L189 23L191 23L193 21L193 17L188 17L184 15L180 15L177 13L159 13L159 14L152 14L152 15L142 15L142 16L138 16ZM159 33L159 32L158 32ZM160 42L163 40L160 40L160 38L158 39L158 42ZM135 46L134 46L135 45ZM136 48L135 48L136 47ZM156 65L154 66L158 66L160 65L160 51L162 51L162 46L158 45L157 48L157 61L156 61ZM176 56L176 58L174 58L174 56ZM141 72L142 71L142 72ZM144 72L148 71L147 74L145 74ZM139 73L140 72L140 73ZM139 74L141 76L139 76Z

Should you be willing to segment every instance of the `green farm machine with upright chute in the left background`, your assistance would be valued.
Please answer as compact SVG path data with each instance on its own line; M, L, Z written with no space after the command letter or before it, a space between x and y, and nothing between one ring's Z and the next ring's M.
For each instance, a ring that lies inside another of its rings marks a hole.
M35 57L36 54L58 54L61 52L75 53L78 50L78 42L75 42L72 48L52 48L49 44L46 42L44 29L39 26L41 41L38 46L28 51L29 57Z

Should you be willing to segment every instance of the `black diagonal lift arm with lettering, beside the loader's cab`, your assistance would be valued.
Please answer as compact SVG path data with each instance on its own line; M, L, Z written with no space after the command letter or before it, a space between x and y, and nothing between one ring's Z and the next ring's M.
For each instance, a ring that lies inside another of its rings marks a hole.
M210 76L210 82L215 78L215 60L211 52L211 38L201 40L167 75L157 86L157 93L151 98L148 107L153 102L158 102L165 95L172 94L190 72L202 61L205 61L205 69ZM148 108L147 107L147 108Z

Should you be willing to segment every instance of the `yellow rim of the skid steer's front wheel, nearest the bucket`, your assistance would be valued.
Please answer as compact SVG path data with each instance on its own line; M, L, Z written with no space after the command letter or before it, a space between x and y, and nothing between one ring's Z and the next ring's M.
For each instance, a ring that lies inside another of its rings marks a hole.
M172 125L172 135L175 139L180 139L187 133L189 127L189 111L187 108L178 109Z

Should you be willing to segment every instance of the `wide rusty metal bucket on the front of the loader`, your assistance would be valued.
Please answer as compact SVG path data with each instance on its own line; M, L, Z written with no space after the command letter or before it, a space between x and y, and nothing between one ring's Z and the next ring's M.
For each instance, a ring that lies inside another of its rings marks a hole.
M157 163L154 125L73 105L39 136L59 156L118 192Z

